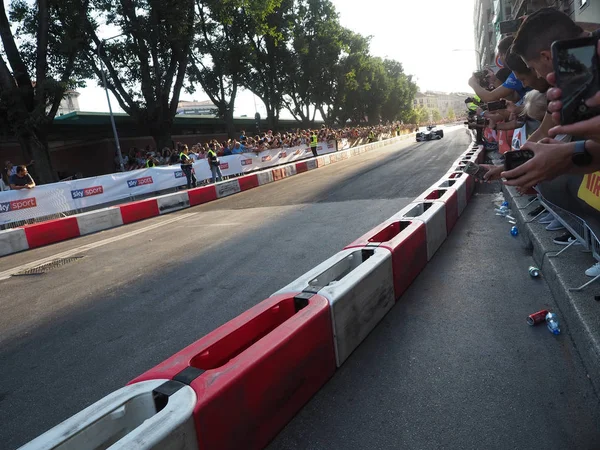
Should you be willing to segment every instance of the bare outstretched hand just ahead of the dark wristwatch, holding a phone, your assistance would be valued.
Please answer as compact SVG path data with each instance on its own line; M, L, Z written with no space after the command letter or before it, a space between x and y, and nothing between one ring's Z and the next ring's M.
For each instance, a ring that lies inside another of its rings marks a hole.
M573 164L571 156L575 143L565 144L546 138L538 143L526 142L521 149L531 150L535 156L516 169L502 172L502 177L506 178L504 184L507 186L519 186L526 190L541 181L569 172Z

